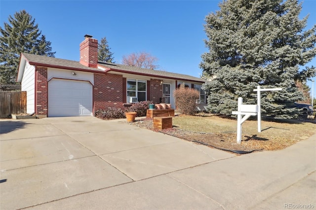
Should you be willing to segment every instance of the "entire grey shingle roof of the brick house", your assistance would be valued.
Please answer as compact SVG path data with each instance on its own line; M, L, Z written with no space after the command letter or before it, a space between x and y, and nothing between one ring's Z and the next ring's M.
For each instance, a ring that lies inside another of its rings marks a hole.
M97 72L116 71L116 72L130 73L130 74L156 76L160 78L171 78L171 79L189 80L189 81L197 81L197 82L206 81L205 79L186 75L186 74L173 73L173 72L162 71L162 70L143 69L143 68L125 66L125 65L114 64L114 63L107 63L107 62L98 62L98 66L105 68L105 70L101 70L97 68L86 67L80 64L78 61L52 58L52 57L34 55L34 54L29 54L29 53L22 53L22 55L28 60L30 65L42 65L45 67L55 67L55 68L70 69L70 70L97 71Z

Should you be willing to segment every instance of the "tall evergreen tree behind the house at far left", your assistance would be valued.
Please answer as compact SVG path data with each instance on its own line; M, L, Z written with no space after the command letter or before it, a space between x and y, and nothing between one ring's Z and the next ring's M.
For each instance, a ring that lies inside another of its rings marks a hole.
M0 73L2 83L16 81L17 70L22 52L54 57L50 41L35 24L35 19L25 10L16 12L8 18L4 29L0 27Z

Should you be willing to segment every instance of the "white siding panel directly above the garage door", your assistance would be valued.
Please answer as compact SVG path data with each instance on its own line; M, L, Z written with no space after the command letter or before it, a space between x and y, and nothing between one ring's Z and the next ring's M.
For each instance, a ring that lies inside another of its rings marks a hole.
M73 75L73 72L75 73L75 75ZM52 78L84 80L84 81L91 82L91 84L94 84L93 73L84 72L84 71L48 68L47 81L51 80Z

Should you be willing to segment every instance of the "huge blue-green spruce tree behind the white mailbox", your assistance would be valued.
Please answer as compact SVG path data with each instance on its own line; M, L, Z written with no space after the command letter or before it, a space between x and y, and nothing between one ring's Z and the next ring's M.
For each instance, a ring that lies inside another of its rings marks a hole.
M303 31L307 18L299 20L302 4L297 0L224 0L220 10L206 16L204 29L209 52L200 68L212 78L203 88L208 110L231 115L237 98L256 104L257 85L282 88L261 92L262 114L293 118L293 102L303 100L297 80L315 75L306 65L316 55L316 25Z

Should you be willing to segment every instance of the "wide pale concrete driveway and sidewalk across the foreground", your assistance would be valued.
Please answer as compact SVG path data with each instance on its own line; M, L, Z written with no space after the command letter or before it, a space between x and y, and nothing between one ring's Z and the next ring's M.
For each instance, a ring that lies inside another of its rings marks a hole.
M120 120L0 120L0 209L316 208L315 137L237 156Z

